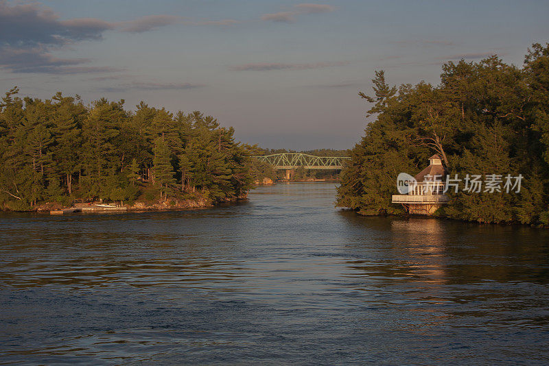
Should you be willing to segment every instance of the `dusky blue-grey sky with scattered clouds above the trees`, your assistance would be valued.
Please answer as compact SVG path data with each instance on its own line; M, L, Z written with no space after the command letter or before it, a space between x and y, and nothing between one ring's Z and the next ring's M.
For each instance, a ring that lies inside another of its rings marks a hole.
M548 15L549 1L0 0L0 93L143 100L244 143L347 149L375 70L436 85L449 60L522 66Z

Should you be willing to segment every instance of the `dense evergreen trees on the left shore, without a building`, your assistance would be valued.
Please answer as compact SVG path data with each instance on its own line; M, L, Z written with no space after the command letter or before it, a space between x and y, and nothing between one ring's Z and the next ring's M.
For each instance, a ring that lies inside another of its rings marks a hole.
M128 201L200 195L211 202L246 193L252 182L248 149L233 127L201 112L172 114L139 103L78 95L0 103L0 207L30 210L71 199Z

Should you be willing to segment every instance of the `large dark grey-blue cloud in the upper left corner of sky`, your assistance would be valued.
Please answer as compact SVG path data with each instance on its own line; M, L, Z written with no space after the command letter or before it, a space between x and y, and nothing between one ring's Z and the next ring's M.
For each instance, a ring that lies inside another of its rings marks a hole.
M119 71L108 66L81 66L91 60L56 58L51 52L83 40L102 40L104 32L109 30L142 33L174 23L233 25L238 22L231 19L192 22L174 15L148 15L122 22L95 18L60 20L53 10L38 3L8 3L0 0L0 67L12 73Z

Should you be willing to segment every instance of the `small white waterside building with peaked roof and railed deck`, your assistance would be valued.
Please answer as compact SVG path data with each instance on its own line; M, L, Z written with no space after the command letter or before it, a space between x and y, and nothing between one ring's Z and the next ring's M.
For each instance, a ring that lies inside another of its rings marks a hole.
M393 204L402 204L410 215L432 215L449 200L444 194L446 170L439 155L429 158L429 166L414 177L407 194L393 195Z

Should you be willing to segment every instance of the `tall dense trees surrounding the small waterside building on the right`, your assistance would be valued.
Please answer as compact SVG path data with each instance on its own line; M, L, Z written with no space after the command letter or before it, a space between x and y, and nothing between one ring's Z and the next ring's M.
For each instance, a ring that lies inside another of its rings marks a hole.
M369 113L377 119L342 172L338 206L363 215L402 213L391 204L400 172L417 173L434 153L450 176L524 176L520 193L449 192L437 215L487 223L549 224L549 44L524 66L493 56L448 62L441 83L386 83L376 72Z

